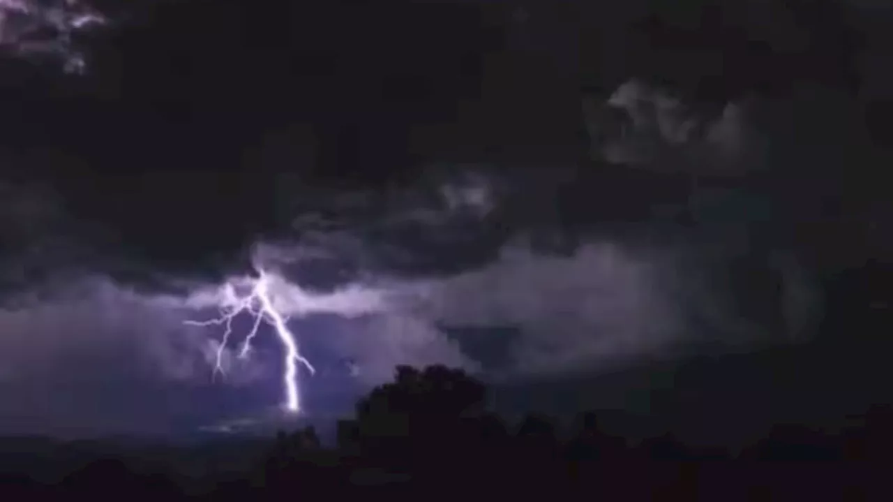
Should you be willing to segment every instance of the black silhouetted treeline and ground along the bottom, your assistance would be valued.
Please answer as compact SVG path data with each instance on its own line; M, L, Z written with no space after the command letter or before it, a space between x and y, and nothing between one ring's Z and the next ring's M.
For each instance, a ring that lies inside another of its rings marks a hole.
M400 367L393 382L357 404L354 420L338 424L336 448L324 448L313 427L221 442L204 457L189 448L127 453L91 443L44 442L41 452L39 441L19 439L19 453L27 449L37 460L0 457L0 491L10 500L319 498L360 489L416 497L472 487L505 496L542 489L539 496L843 499L879 486L883 465L893 460L889 408L876 407L858 428L834 434L776 425L763 439L730 451L696 448L669 433L639 441L613 437L594 413L571 425L538 414L510 423L488 411L486 394L480 381L459 370Z

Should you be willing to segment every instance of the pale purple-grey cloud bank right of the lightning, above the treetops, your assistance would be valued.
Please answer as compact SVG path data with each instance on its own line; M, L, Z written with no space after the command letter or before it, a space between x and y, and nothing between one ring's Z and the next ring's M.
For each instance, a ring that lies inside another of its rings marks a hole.
M680 337L659 264L606 241L570 256L514 245L493 264L431 284L425 307L446 325L517 328L514 374L597 371Z

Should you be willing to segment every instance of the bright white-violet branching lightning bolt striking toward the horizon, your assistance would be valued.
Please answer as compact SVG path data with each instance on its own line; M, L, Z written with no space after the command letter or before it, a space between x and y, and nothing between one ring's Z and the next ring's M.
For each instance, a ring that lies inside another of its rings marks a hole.
M301 398L297 386L298 364L304 367L311 374L316 370L313 364L301 355L298 347L297 337L295 333L288 328L288 316L282 314L277 305L274 304L271 297L271 276L263 270L258 271L259 277L249 280L250 289L247 294L240 295L236 285L228 282L223 289L223 301L220 308L220 316L208 321L186 321L187 324L194 326L224 326L223 339L217 348L216 361L214 363L213 374L218 372L223 374L223 355L224 350L230 343L232 335L232 322L239 314L247 314L254 318L251 330L248 330L238 357L245 359L251 351L251 343L257 336L258 331L263 323L271 326L276 332L282 346L285 347L285 371L282 375L285 384L286 403L285 407L290 412L301 411Z

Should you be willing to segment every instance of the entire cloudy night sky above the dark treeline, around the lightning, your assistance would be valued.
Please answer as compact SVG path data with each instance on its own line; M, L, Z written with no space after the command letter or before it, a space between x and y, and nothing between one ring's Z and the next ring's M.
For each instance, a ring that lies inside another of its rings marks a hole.
M309 417L396 364L506 409L882 402L889 13L695 4L0 0L0 433L276 415L271 328L221 378L184 323L257 267L322 305Z

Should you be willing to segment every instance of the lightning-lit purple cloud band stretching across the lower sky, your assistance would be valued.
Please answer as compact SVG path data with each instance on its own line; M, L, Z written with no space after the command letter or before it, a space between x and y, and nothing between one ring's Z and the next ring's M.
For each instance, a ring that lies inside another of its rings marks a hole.
M498 376L463 352L445 327L516 330L509 367L501 371L519 378L601 371L672 356L693 339L739 349L769 336L761 320L741 319L734 294L705 280L711 273L706 264L680 260L701 253L719 264L747 247L728 236L718 238L718 251L710 251L685 238L680 238L683 244L646 245L647 239L594 233L583 236L572 252L555 255L535 251L524 231L514 230L515 238L493 260L460 272L413 276L380 266L382 256L417 252L397 230L418 230L409 234L448 244L492 220L506 197L514 197L479 169L461 171L457 178L433 177L424 189L388 194L384 204L374 196L342 197L333 203L336 209L351 205L348 213L362 217L338 220L319 211L313 218L296 219L291 233L255 244L255 266L275 274L271 300L282 314L291 315L290 325L308 357L319 358L313 361L319 374L301 375L308 395L361 392L390 379L397 364L447 364ZM554 184L541 186L530 184L533 189ZM226 284L166 277L170 288L134 289L139 285L111 279L93 266L96 261L66 261L68 250L88 245L71 230L79 225L68 221L62 202L27 191L12 193L21 197L9 197L6 204L18 216L0 224L18 232L25 244L4 261L5 270L27 262L65 272L44 274L39 281L22 277L4 297L0 427L54 433L166 431L183 417L215 423L251 414L246 408L258 407L258 400L263 408L277 405L283 352L268 327L259 332L250 356L240 358L239 343L251 328L250 319L234 324L234 343L228 347L220 345L220 326L184 323L219 315L231 299ZM530 213L548 199L521 197L530 201ZM364 213L363 208L377 204L386 208L384 213ZM58 229L74 235L50 238ZM350 264L355 272L330 274L329 287L308 288L302 273L313 260ZM139 266L151 269L152 264ZM791 291L779 300L786 302L789 324L803 324L812 315L811 289L796 266L777 268L787 274ZM766 301L775 299L767 296ZM213 376L218 350L223 377ZM344 359L350 368L336 364ZM227 398L241 407L222 405Z

